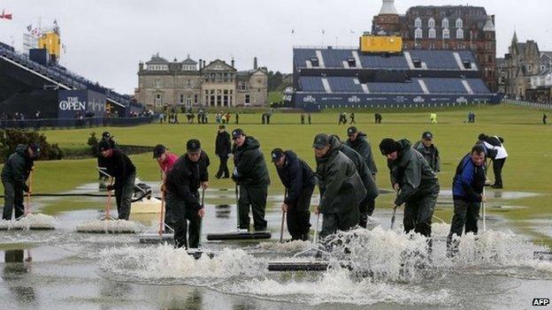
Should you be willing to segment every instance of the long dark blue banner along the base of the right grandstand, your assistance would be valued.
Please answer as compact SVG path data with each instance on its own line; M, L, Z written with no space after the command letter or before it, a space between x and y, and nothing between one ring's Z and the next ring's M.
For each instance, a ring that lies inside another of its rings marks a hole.
M295 108L423 108L471 103L498 103L498 95L381 95L381 94L309 94L295 93Z

